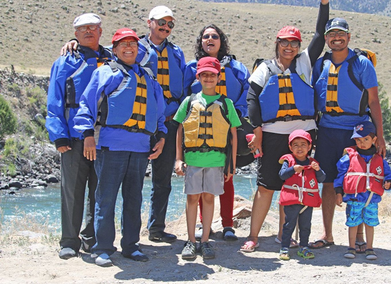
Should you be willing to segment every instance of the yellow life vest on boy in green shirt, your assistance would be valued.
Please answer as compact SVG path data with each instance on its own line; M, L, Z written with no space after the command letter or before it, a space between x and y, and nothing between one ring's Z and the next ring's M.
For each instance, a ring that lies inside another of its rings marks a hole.
M231 126L225 96L203 105L197 94L192 94L182 124L185 152L225 152Z

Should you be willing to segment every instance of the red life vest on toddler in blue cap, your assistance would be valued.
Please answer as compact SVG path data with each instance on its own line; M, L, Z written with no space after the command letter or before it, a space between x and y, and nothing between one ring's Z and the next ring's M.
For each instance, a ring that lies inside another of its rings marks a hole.
M382 196L384 193L383 158L376 153L367 164L357 152L356 146L345 148L344 154L348 154L350 165L343 180L343 192L357 196L357 193L369 190Z

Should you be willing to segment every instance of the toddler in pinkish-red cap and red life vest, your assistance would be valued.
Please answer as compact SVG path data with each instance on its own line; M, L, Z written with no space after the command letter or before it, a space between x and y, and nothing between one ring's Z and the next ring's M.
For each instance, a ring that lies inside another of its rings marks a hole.
M323 182L326 174L315 159L308 157L312 139L304 130L294 130L289 135L289 149L292 154L280 158L282 164L280 178L284 181L280 195L280 205L284 206L285 224L282 230L280 259L289 260L289 245L298 220L300 249L297 254L304 259L314 258L308 248L311 233L313 207L320 207L318 182Z

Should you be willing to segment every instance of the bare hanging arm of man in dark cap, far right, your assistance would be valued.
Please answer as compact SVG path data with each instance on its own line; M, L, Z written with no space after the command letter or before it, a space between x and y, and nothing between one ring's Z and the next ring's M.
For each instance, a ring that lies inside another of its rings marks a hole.
M383 137L382 109L380 108L377 87L368 89L368 105L369 109L371 110L373 124L376 127L377 140L375 142L375 146L377 147L378 154L383 155L383 158L385 158L386 141L384 141Z

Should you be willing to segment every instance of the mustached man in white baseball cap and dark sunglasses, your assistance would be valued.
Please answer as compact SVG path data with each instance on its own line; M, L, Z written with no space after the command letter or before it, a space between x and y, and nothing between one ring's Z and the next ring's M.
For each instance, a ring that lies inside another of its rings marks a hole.
M149 33L140 38L139 55L152 48L157 58L150 60L151 70L163 89L165 100L165 126L168 129L163 152L152 160L151 210L148 220L149 239L152 241L172 242L176 236L164 232L167 204L171 192L171 175L176 155L176 132L178 123L172 120L183 100L183 72L185 55L182 49L167 37L174 29L176 18L166 6L156 6L147 20ZM153 142L151 141L151 144Z

